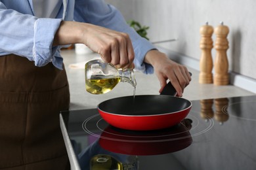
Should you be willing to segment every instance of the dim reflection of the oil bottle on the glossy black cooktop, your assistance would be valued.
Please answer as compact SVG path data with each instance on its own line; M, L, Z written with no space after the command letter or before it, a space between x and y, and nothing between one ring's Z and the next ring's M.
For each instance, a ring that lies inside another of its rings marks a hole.
M136 157L137 158L137 157ZM90 169L91 170L136 170L137 159L131 163L121 163L115 158L105 154L98 154L91 158Z

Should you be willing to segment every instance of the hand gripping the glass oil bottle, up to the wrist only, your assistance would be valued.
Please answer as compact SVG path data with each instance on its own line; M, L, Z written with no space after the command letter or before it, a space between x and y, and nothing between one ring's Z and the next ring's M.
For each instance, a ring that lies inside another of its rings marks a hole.
M85 35L85 45L100 54L103 61L116 65L117 68L128 68L133 63L135 54L129 35L105 27L90 25Z

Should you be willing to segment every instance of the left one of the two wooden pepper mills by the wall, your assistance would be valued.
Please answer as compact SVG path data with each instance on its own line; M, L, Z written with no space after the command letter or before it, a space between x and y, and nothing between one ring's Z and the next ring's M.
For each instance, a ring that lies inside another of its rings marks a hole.
M200 34L202 37L200 41L202 54L200 58L199 83L209 84L213 83L213 73L211 73L213 69L213 58L211 56L211 49L213 48L213 39L211 39L213 27L206 22L206 24L200 28Z

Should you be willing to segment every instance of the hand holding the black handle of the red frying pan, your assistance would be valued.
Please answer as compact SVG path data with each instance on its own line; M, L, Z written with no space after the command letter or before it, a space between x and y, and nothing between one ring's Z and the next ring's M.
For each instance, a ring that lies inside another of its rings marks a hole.
M167 84L167 79L169 79L177 91L177 95L182 96L184 88L188 86L191 80L188 69L185 66L175 63L158 50L150 50L146 54L144 61L154 67L161 85L160 92Z

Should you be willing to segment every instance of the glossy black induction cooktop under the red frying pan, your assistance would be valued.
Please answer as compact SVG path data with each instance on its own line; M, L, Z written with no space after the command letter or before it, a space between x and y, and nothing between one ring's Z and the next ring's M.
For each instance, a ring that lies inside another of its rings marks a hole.
M256 95L192 101L155 131L118 129L96 109L63 111L60 124L72 169L256 169Z

